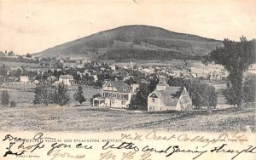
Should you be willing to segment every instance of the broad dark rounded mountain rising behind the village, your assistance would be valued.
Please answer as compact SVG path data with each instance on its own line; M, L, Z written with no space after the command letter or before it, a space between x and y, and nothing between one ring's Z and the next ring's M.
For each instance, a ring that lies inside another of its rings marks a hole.
M155 26L120 26L46 49L39 56L62 56L89 60L195 59L222 42Z

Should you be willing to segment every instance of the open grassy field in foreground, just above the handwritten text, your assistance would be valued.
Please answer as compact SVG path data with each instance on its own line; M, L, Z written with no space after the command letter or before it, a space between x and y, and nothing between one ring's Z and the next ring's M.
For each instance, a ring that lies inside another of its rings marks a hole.
M173 131L255 131L255 108L210 112L135 112L90 107L38 107L0 110L0 130L109 131L164 129Z

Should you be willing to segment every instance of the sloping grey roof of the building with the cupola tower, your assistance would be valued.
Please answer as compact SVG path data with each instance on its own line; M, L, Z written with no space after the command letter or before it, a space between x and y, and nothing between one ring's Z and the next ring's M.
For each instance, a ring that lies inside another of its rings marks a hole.
M180 94L177 97L173 95L177 94L180 89L180 87L167 86L165 90L154 90L154 93L163 101L165 106L177 106Z

